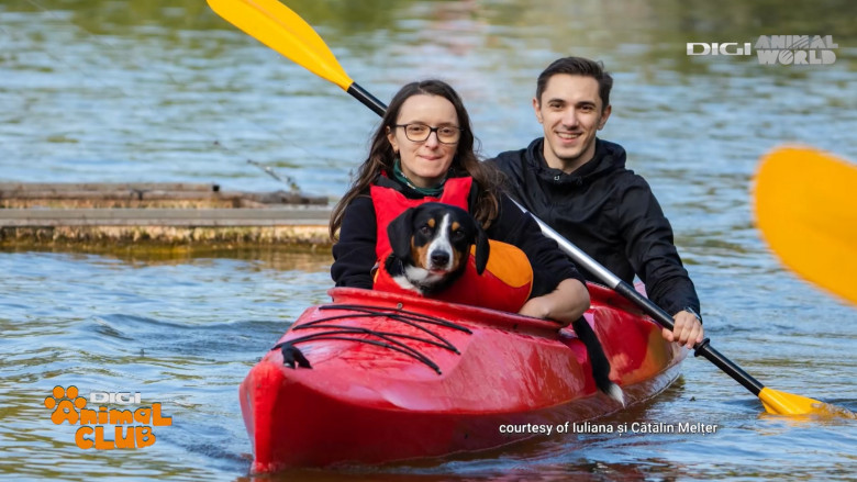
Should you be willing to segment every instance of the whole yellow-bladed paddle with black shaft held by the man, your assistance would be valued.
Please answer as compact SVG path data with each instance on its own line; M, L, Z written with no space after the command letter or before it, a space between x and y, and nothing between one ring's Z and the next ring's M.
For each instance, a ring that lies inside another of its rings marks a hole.
M277 0L208 0L220 16L234 24L249 36L279 52L287 58L329 80L354 96L379 115L386 107L378 99L357 86L331 53L324 41L297 13ZM521 208L523 210L523 208ZM526 210L524 210L526 212ZM532 215L532 214L531 214ZM535 218L535 216L533 216ZM623 296L639 306L646 314L672 329L672 317L652 301L637 293L634 288L619 279L594 259L587 256L544 222L536 218L545 234L559 244L571 259ZM726 374L757 395L765 410L773 414L800 415L824 412L824 404L816 400L771 390L747 374L726 357L717 352L705 339L694 347L697 356L703 356Z

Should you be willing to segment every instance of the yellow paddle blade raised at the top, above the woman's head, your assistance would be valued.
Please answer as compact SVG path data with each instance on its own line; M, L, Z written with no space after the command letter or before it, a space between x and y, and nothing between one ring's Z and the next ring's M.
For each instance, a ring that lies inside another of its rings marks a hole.
M330 80L343 90L348 90L354 83L322 37L297 13L277 0L208 2L218 15L307 70Z

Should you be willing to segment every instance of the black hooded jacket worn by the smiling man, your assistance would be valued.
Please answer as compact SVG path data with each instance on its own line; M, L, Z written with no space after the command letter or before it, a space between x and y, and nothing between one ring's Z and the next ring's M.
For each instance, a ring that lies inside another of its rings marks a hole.
M543 143L537 138L492 159L509 178L512 197L624 281L636 273L649 299L669 314L686 306L699 312L672 227L645 179L625 168L625 149L597 139L592 160L569 175L547 166Z

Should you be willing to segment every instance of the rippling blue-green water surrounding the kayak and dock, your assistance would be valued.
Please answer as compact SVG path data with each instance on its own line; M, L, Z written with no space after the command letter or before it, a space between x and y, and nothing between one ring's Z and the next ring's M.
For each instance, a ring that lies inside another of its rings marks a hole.
M857 310L798 280L754 227L758 158L803 143L857 159L848 2L348 2L290 5L382 100L442 75L483 154L539 134L535 76L561 55L616 79L604 138L676 228L713 345L769 386L857 411ZM687 57L687 42L832 34L825 67ZM0 2L0 180L192 181L276 190L253 159L337 198L377 117L188 0ZM795 200L800 202L800 200ZM812 248L808 246L808 248ZM236 386L304 307L326 301L324 253L0 251L0 478L235 480L249 442ZM288 480L853 479L845 418L761 415L704 360L657 400L600 421L716 424L716 434L569 435L479 458L298 471ZM84 451L43 404L55 385L136 391L174 425L129 451Z

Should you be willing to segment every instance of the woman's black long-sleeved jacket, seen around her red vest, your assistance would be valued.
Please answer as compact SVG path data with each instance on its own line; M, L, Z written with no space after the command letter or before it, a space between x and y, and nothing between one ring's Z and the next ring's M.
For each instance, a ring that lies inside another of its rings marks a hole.
M423 198L419 192L393 179L379 178L378 183L397 189L407 198ZM477 189L476 184L474 188ZM471 204L475 194L476 191L471 191ZM556 242L544 237L536 222L505 195L501 200L500 215L491 223L486 234L491 239L517 246L526 254L533 265L534 277L530 298L554 291L557 284L568 278L585 281L575 265L559 250ZM376 238L375 205L367 191L345 208L340 240L333 245L331 277L337 287L372 288L371 270L377 261Z

